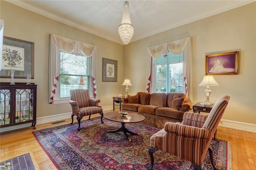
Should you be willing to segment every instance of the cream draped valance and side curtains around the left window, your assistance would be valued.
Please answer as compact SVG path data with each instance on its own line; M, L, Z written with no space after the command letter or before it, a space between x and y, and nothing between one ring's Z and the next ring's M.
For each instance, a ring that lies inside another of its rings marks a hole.
M92 57L92 67L91 67L91 79L90 82L90 96L97 96L96 88L96 75L97 75L97 46L79 42L76 40L71 40L61 36L51 34L50 36L50 66L49 66L49 88L50 88L50 97L49 103L52 103L54 100L58 99L57 96L57 87L58 87L58 78L60 76L60 51L66 53L76 53L82 54L86 57Z

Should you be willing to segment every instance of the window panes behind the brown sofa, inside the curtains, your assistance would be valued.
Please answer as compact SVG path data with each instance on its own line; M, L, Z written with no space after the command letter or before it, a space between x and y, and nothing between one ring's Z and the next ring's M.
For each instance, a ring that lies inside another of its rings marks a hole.
M154 58L154 91L183 93L183 52Z

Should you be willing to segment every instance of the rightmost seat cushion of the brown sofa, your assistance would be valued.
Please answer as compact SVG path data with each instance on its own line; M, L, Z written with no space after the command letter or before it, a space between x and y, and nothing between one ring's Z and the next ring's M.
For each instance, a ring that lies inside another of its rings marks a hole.
M156 109L156 115L171 117L174 119L183 119L184 112L177 111L176 109L170 107L160 107Z

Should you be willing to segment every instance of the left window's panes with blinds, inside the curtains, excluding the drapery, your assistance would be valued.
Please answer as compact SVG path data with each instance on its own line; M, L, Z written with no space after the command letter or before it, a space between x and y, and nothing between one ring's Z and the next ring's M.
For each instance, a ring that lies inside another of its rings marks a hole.
M58 97L70 97L70 89L90 91L91 57L60 51L60 77Z

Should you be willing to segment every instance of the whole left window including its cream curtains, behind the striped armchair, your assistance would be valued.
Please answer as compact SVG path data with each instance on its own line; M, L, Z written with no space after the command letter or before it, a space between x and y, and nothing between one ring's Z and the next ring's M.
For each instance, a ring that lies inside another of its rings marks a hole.
M70 101L70 89L88 89L97 98L97 46L51 34L49 103Z

